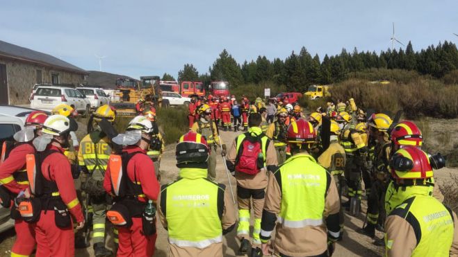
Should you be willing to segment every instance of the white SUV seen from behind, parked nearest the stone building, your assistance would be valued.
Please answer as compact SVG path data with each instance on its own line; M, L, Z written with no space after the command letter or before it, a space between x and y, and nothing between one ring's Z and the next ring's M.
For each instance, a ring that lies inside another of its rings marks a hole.
M31 107L51 111L60 104L67 104L83 116L90 114L90 101L80 91L64 86L40 86L31 96Z

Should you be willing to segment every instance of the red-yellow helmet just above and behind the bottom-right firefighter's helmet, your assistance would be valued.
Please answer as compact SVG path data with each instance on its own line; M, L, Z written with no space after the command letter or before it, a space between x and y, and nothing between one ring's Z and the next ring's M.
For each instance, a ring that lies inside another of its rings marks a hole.
M402 121L393 127L391 141L395 145L421 146L423 144L423 136L415 123Z

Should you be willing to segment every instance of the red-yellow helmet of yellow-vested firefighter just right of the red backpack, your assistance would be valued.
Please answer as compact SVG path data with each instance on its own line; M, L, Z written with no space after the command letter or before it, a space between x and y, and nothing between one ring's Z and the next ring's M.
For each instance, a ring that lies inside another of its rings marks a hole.
M309 121L300 118L288 126L288 143L313 143L316 141L316 131Z

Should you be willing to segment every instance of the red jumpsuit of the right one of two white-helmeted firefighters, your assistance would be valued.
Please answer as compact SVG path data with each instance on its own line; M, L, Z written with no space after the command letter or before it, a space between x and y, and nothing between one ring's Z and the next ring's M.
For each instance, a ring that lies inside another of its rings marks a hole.
M143 152L138 146L128 146L123 150L124 152ZM149 200L156 202L160 190L159 182L154 173L154 164L146 154L136 154L127 164L127 175L131 181L140 181L142 186L142 193L146 195ZM106 192L111 192L111 179L110 168L106 169L104 188ZM145 202L145 198L138 197L138 200ZM120 227L119 240L120 245L117 249L117 257L122 256L136 256L136 257L150 257L154 255L154 246L156 245L157 233L152 236L144 236L142 233L142 218L132 218L131 227Z

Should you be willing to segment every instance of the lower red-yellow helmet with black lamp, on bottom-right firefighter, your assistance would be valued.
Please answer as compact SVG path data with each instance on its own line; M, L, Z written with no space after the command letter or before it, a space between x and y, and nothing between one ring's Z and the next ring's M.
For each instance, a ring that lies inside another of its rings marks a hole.
M390 168L394 179L428 179L433 175L428 154L411 145L395 152Z

